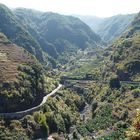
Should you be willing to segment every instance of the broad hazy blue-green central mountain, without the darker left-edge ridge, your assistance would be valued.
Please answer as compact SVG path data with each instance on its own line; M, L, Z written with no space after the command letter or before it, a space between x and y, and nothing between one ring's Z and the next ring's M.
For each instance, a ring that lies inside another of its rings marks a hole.
M16 9L14 13L42 49L61 62L67 62L70 55L78 49L96 48L102 44L98 35L72 16L40 13L29 9Z

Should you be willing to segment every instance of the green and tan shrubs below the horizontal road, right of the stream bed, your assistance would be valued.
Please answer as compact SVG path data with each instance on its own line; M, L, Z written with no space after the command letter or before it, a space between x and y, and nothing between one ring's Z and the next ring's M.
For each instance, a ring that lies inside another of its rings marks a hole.
M78 133L83 137L96 136L99 140L126 138L125 131L133 118L132 114L139 108L139 88L139 85L132 84L122 84L120 89L112 89L106 84L91 86L93 92L87 92L84 97L87 101L93 101L92 118L77 126Z

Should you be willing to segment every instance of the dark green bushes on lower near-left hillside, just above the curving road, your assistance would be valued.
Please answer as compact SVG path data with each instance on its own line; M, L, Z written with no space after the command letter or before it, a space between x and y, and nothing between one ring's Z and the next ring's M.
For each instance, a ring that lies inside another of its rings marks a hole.
M38 105L44 95L44 77L39 66L20 66L14 83L3 83L0 89L0 112L20 111Z

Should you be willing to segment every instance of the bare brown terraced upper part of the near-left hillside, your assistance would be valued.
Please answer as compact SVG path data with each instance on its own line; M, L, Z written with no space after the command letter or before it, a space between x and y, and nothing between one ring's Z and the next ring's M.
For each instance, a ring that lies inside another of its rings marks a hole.
M18 76L20 64L33 64L34 61L28 52L5 39L5 36L0 34L0 80L12 82Z

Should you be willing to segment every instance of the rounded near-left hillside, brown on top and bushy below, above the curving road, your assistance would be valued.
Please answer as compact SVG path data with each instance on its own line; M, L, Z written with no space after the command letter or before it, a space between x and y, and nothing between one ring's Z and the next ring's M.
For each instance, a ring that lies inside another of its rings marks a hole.
M43 81L37 60L0 33L0 112L38 104L44 94Z

